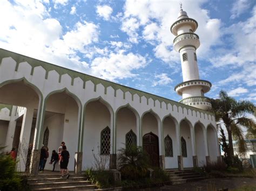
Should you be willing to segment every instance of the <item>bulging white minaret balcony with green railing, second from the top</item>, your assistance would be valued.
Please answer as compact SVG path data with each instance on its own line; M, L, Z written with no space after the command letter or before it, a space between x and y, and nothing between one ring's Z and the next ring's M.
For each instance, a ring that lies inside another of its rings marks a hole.
M193 46L198 48L200 46L199 37L195 33L183 33L174 38L173 40L174 49L179 52L181 48L185 46Z

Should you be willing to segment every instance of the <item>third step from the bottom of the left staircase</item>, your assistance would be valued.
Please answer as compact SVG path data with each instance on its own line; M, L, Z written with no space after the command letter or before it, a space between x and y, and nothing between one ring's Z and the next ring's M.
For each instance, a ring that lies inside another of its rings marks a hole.
M41 182L55 182L55 181L58 181L58 182L64 182L66 181L67 179L65 178L60 178L60 176L58 178L30 178L28 179L28 183L41 183ZM77 176L77 177L72 177L70 176L69 181L83 181L85 180L85 177L84 176Z

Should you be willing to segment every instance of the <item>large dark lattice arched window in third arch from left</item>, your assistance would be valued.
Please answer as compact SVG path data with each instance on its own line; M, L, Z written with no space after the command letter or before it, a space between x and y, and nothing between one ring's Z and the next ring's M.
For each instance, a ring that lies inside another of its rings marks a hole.
M100 133L100 154L110 154L110 128L108 126Z

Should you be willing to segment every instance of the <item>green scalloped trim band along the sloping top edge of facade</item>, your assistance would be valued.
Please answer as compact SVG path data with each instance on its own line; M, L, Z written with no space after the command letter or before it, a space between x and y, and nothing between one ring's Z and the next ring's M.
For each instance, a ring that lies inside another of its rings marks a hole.
M160 97L160 96L157 96L157 95L146 93L144 91L140 91L140 90L137 90L137 89L134 89L134 88L126 87L126 86L123 86L123 85L120 85L120 84L117 84L117 83L114 83L114 82L110 82L110 81L107 81L107 80L99 79L98 77L94 77L94 76L90 76L90 75L83 74L83 73L80 73L80 72L76 72L76 71L71 70L71 69L56 66L56 65L53 65L52 63L48 63L48 62L44 62L44 61L41 61L41 60L33 59L33 58L30 58L29 56L24 56L24 55L14 53L14 52L11 52L11 51L7 51L5 49L0 48L0 60L2 61L3 58L8 58L8 57L11 57L12 59L14 59L17 62L17 65L19 65L19 63L21 63L21 62L25 62L25 61L28 62L29 65L31 65L31 67L32 67L31 72L35 67L38 67L38 66L43 67L46 70L45 78L48 77L46 75L51 70L55 70L60 76L62 76L63 74L68 74L71 77L71 82L76 77L80 77L80 79L82 79L84 81L84 84L85 84L86 81L92 81L92 83L95 84L95 86L96 86L96 84L101 83L104 86L105 89L107 87L112 87L114 89L115 93L118 89L120 89L120 90L123 91L124 94L127 91L129 91L131 93L132 97L137 94L140 99L141 99L142 96L145 96L147 98L147 100L149 100L149 98L152 98L153 101L158 100L160 103L165 102L166 105L170 103L172 106L177 105L177 108L178 107L187 108L187 109L191 109L191 110L194 110L194 111L204 112L204 114L206 113L206 114L210 114L212 116L214 115L211 112L204 111L204 110L201 110L201 109L198 109L198 108L194 108L194 107L191 107L189 105L182 104L182 103L179 103L179 102L176 102L176 101L173 101L173 100L169 100L169 99L164 98L164 97ZM16 66L16 68L18 68L18 67Z

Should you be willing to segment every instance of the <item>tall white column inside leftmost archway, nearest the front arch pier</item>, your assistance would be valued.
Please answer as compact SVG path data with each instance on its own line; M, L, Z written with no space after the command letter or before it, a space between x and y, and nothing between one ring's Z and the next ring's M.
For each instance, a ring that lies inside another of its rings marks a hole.
M28 154L29 138L31 133L31 126L33 121L33 108L26 108L23 116L21 135L19 136L18 148L18 169L23 172L26 167L26 157Z

